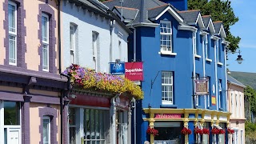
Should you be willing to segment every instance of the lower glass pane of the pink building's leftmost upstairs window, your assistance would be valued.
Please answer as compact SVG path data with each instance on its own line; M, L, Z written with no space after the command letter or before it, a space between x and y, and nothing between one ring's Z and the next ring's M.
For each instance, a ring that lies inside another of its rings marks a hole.
M9 62L16 63L16 37L9 36Z

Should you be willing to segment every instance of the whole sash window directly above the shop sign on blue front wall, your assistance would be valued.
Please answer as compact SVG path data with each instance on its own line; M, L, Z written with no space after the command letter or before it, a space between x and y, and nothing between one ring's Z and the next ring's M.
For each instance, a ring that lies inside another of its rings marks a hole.
M173 98L173 72L162 72L162 104L174 103Z

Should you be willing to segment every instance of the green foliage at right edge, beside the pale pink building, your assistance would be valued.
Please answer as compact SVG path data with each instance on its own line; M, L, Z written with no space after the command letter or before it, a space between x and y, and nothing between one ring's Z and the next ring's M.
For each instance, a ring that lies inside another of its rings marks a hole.
M245 89L245 99L250 102L250 110L256 113L256 90L251 88L250 86L246 86Z

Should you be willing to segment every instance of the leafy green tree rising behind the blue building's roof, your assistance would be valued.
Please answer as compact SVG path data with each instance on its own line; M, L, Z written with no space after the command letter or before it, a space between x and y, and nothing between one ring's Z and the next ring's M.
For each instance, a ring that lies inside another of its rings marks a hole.
M214 21L222 21L226 32L226 41L230 42L227 50L235 52L239 48L239 37L230 33L230 26L238 22L238 17L234 15L234 10L230 6L229 0L188 0L189 10L201 10L202 15L211 15Z

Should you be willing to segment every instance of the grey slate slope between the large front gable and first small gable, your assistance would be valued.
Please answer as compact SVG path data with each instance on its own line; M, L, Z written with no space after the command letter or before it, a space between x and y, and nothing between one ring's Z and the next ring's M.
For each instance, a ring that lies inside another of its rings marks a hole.
M199 13L200 13L200 10L178 11L178 14L180 14L182 18L184 18L185 22L197 22Z

